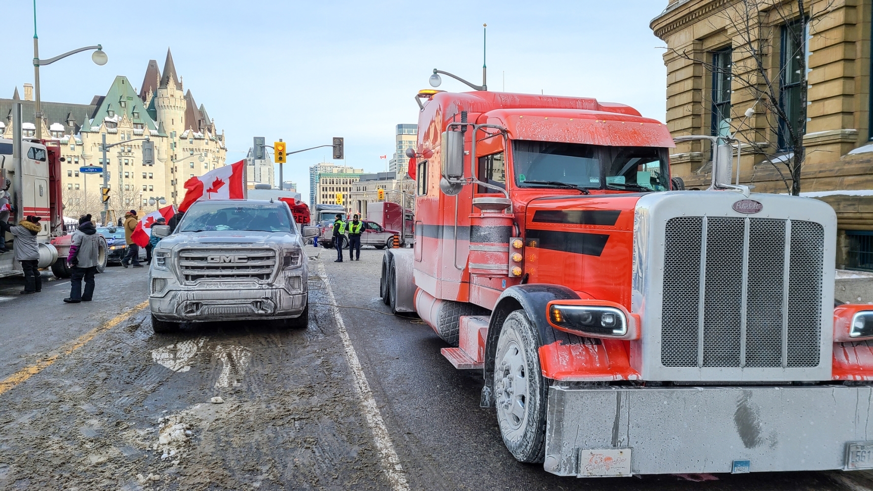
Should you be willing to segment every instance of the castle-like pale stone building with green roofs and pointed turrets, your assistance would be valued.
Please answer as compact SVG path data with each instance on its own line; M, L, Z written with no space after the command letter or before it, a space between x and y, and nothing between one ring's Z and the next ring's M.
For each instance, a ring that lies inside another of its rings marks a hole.
M163 74L150 60L140 91L124 76L117 76L108 92L90 104L41 102L46 139L58 140L65 162L61 164L65 215L97 214L103 209L100 188L103 174L80 174L79 167L101 166L102 135L107 145L110 208L119 214L129 208L154 209L150 198L170 203L182 201L184 182L224 165L224 134L204 106L197 106L191 91L183 93L182 78L167 51ZM24 85L24 136L36 129L35 102ZM11 138L11 99L0 99L0 133ZM155 142L155 161L142 161L142 141ZM129 143L125 143L130 141Z

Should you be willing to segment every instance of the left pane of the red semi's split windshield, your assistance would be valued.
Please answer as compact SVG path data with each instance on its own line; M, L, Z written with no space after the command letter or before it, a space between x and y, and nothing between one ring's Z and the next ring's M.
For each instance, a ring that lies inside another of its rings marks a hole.
M581 188L600 188L600 156L594 145L552 141L515 140L512 165L516 184L536 188L526 181L566 182Z

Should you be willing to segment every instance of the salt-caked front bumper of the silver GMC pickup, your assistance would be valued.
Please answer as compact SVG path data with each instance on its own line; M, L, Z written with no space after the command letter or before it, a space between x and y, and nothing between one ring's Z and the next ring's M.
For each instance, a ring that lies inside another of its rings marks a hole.
M163 321L211 322L299 317L306 308L305 273L282 279L285 283L200 282L189 286L180 285L171 275L153 275L148 301L152 314Z

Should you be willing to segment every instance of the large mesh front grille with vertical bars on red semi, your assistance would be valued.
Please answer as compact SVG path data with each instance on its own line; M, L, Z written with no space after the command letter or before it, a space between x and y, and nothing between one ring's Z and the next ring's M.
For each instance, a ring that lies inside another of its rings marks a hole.
M661 364L818 366L823 257L824 230L815 222L670 219Z

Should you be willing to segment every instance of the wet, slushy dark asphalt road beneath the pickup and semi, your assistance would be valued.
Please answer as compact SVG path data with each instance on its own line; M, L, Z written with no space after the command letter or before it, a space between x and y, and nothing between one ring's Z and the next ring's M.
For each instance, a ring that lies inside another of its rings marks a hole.
M63 280L38 296L0 280L0 489L398 489L326 281L409 489L873 489L839 472L578 480L519 464L478 407L480 372L455 370L429 327L388 314L382 251L341 264L307 253L320 258L298 331L217 323L156 336L135 310L145 269L107 269L98 300L78 305L61 302Z

